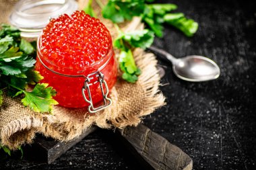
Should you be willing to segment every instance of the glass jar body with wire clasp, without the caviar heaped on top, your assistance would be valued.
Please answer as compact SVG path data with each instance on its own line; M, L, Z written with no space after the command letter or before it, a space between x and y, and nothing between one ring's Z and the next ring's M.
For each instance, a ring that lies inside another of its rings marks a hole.
M75 63L71 67L60 67L42 52L42 35L37 42L36 70L44 77L41 83L49 83L57 91L54 97L59 105L68 108L88 107L90 113L98 112L111 104L108 91L117 80L117 62L110 33L108 48L100 60L87 67Z

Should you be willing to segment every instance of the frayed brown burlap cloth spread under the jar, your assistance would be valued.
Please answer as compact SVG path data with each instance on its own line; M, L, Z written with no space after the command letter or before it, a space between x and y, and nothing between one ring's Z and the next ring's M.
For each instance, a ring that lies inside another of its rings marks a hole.
M16 1L0 0L0 22L8 23L9 13ZM83 9L86 1L78 1L79 9ZM96 13L100 13L99 7L94 4ZM113 38L117 32L111 22L101 19L110 30ZM141 29L139 19L124 24L123 30ZM118 52L116 51L118 56ZM158 89L160 77L156 69L156 58L153 54L141 49L134 51L135 62L142 73L135 84L118 79L112 89L110 97L113 105L106 110L88 116L86 109L68 109L61 106L53 108L53 114L38 114L25 108L21 99L3 97L3 105L0 108L0 137L1 143L11 149L21 144L31 143L36 133L51 136L57 140L67 141L78 137L86 128L96 125L100 128L124 128L136 126L141 118L151 114L164 105L164 96Z

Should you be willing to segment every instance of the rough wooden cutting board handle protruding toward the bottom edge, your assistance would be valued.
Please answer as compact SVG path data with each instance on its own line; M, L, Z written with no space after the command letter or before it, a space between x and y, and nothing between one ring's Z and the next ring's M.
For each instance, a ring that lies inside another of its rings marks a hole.
M192 159L181 148L170 144L145 125L139 124L119 131L154 169L192 169Z

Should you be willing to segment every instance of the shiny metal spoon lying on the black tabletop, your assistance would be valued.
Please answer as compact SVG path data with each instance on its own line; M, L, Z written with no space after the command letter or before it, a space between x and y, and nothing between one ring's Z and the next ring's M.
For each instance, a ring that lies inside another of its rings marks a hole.
M172 62L174 74L185 81L210 81L220 76L220 68L213 60L203 56L185 56L175 58L168 52L150 46L152 52L166 56Z

